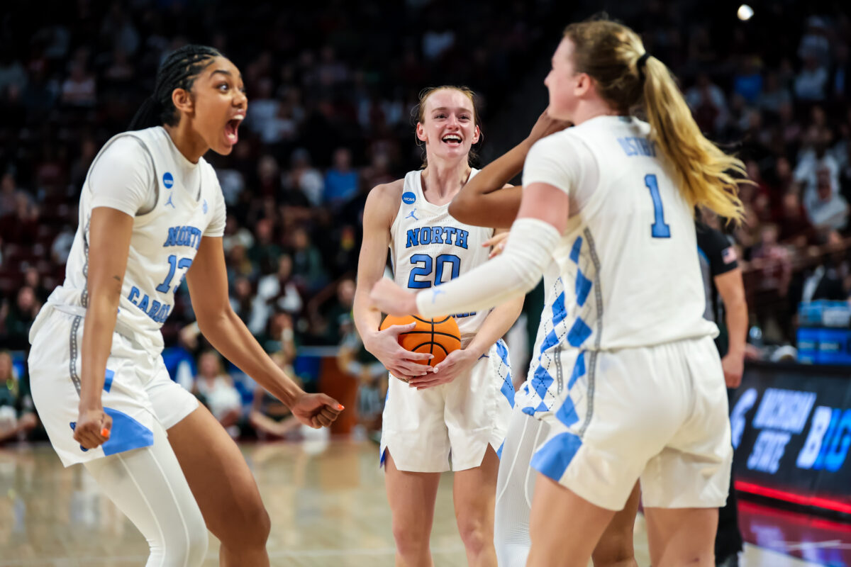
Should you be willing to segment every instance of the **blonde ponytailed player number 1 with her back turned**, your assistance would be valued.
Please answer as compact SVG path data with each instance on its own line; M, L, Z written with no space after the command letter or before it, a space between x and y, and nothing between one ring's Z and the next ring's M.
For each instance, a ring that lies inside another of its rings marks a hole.
M729 172L744 165L625 26L568 26L545 84L549 114L575 127L528 149L505 252L416 295L379 281L370 299L396 315L487 309L543 274L548 316L518 396L550 428L531 460L527 564L585 567L641 479L654 566L709 567L732 447L692 212L740 218ZM639 104L649 123L629 116Z

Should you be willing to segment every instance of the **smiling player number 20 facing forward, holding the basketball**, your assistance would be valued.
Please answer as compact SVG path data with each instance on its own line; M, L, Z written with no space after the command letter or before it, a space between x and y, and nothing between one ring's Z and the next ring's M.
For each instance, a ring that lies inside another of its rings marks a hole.
M378 185L363 213L354 315L363 344L390 371L381 433L397 565L431 565L429 537L440 473L454 471L454 506L468 563L496 565L494 496L497 451L514 401L508 350L500 340L520 314L523 298L491 309L447 311L461 332L460 350L431 371L431 354L397 342L410 326L379 331L369 290L384 274L390 248L394 280L408 289L440 289L488 259L494 235L459 223L447 207L476 174L471 146L481 136L469 89L440 87L420 95L416 136L426 167Z

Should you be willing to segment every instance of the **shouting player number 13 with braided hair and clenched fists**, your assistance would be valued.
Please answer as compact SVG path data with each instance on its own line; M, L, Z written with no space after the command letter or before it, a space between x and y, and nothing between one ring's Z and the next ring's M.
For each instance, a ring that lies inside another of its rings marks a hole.
M131 132L89 168L66 280L33 323L32 397L63 464L82 462L151 546L147 565L268 565L269 517L225 429L163 364L183 277L209 342L311 427L342 407L305 394L231 309L225 201L207 150L229 154L247 99L237 67L189 45L163 61ZM144 128L144 129L143 129Z

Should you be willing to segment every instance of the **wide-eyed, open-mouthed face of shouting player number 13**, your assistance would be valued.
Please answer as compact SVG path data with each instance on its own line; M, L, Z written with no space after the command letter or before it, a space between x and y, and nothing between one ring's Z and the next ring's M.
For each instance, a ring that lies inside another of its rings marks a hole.
M211 150L223 156L231 153L239 140L239 125L248 111L243 77L237 65L225 57L214 57L196 77L191 91L175 88L172 99Z

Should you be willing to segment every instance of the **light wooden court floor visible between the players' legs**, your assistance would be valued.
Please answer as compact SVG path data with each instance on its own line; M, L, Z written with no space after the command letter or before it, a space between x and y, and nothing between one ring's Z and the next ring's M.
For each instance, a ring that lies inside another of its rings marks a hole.
M272 521L272 565L393 564L390 512L376 445L312 439L244 445ZM452 510L452 478L437 497L431 548L438 567L465 565ZM649 564L641 517L638 564ZM205 565L216 565L211 536ZM82 467L62 468L49 445L0 448L0 567L143 565L147 546ZM815 565L747 546L743 567Z

